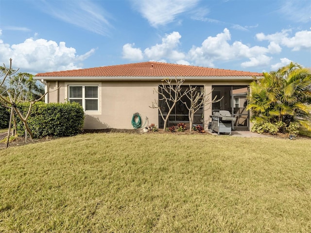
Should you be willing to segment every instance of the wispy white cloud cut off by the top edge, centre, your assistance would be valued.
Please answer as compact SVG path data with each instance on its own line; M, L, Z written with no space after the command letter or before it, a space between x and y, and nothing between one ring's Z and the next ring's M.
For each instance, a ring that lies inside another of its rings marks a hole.
M134 7L153 27L173 22L179 14L190 11L195 7L198 1L199 0L132 0Z

